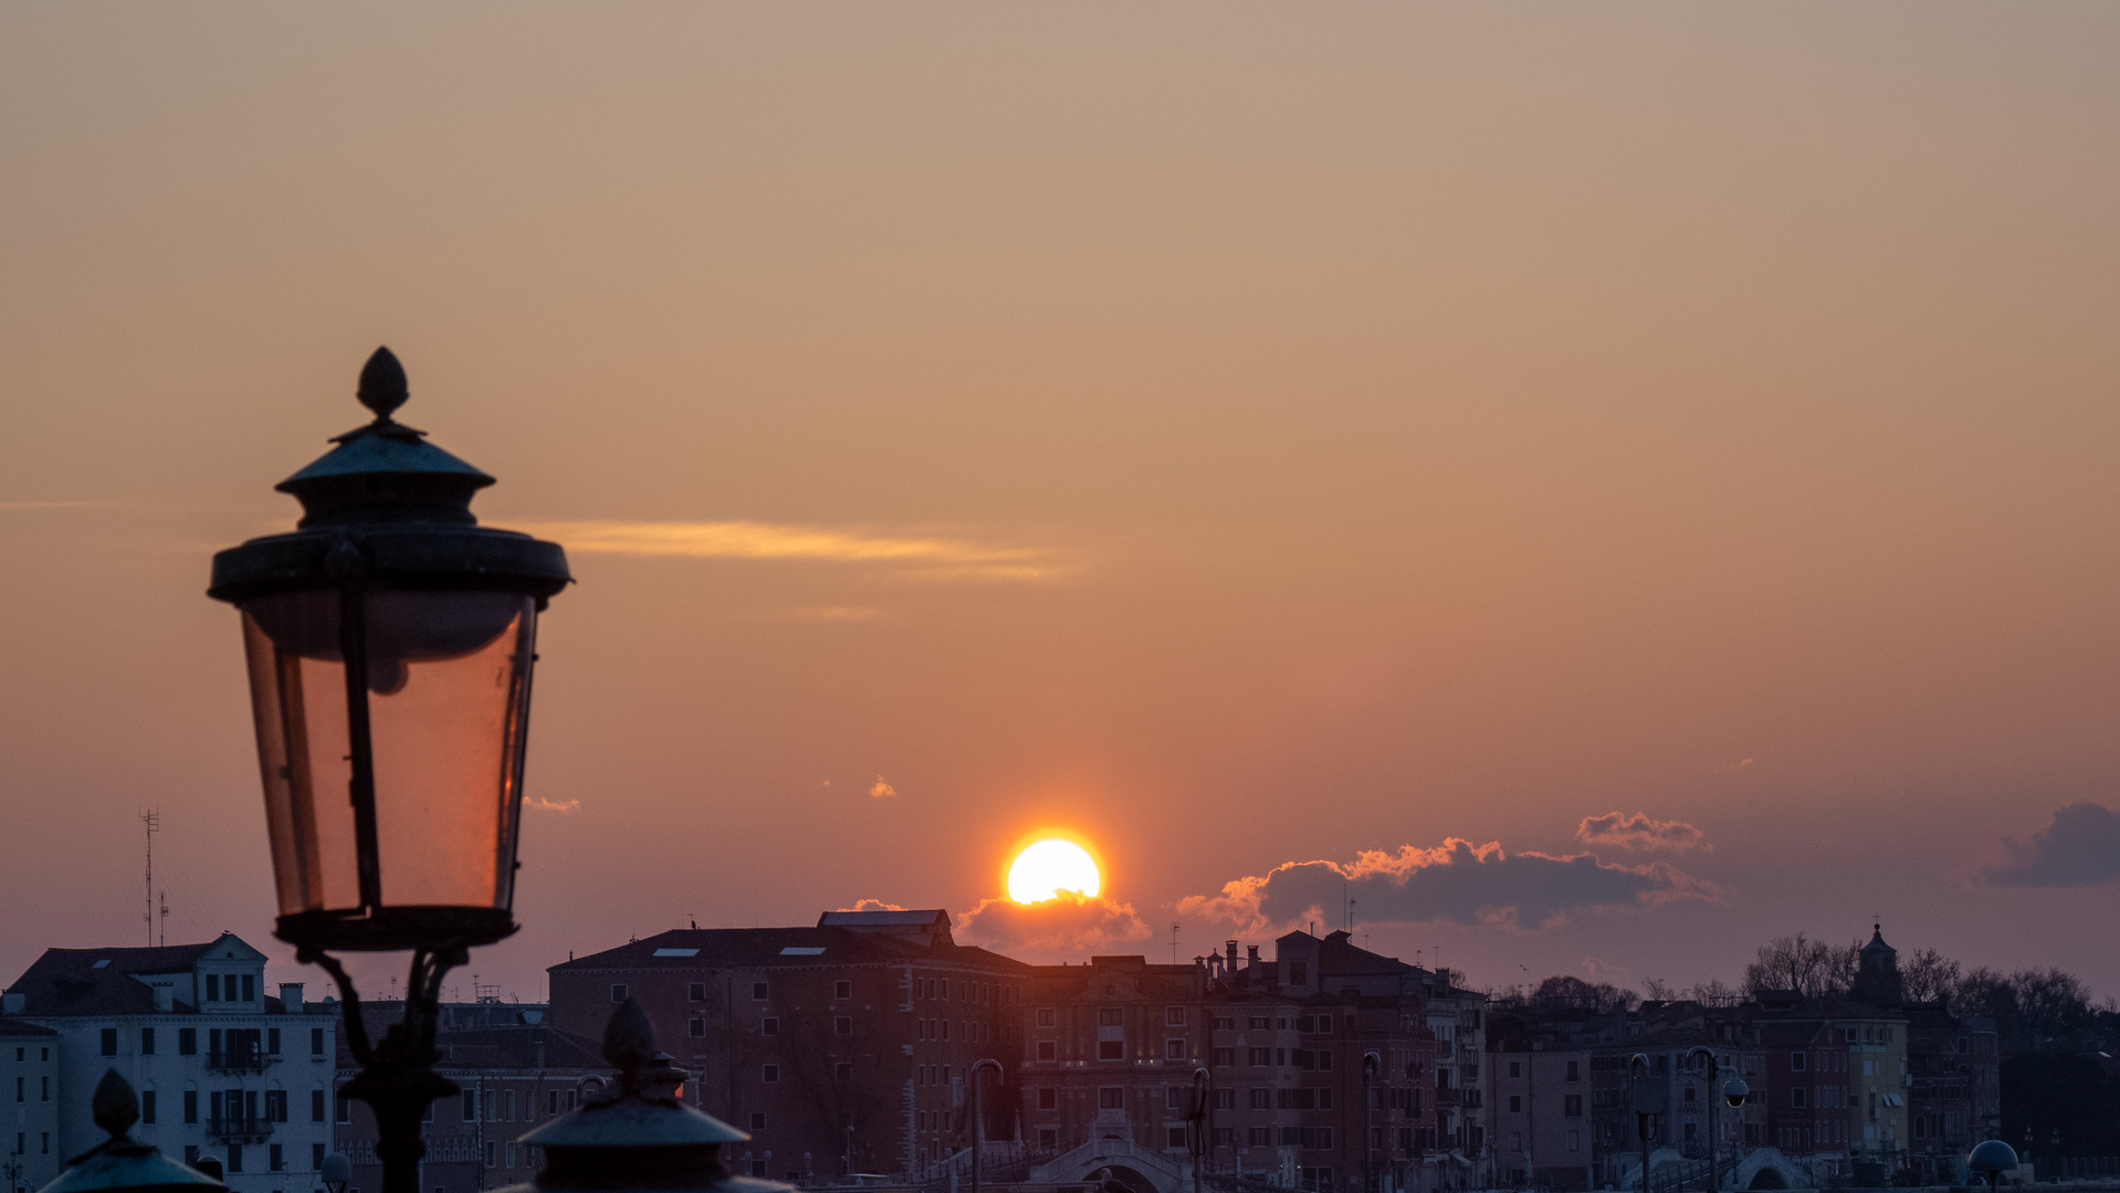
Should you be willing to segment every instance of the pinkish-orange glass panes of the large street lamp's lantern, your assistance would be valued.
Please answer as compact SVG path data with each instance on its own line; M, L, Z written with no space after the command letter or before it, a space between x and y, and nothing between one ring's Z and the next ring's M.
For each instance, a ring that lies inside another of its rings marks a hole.
M507 909L536 606L373 589L363 608L384 905ZM354 909L339 593L246 602L244 638L280 911Z

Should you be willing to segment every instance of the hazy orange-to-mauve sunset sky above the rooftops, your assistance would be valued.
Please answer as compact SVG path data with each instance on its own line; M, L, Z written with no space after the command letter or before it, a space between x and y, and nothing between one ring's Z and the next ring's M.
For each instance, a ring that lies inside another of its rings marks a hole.
M322 987L204 587L388 343L579 581L458 996L861 901L2120 994L2112 4L4 4L0 163L6 975L155 809Z

